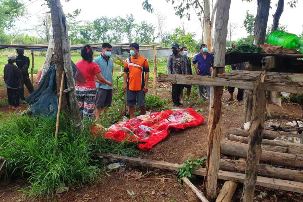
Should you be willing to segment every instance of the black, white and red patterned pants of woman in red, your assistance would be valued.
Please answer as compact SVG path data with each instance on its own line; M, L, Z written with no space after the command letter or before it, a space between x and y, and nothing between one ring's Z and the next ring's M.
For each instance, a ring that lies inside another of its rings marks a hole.
M81 118L93 118L95 114L96 88L76 86L76 98Z

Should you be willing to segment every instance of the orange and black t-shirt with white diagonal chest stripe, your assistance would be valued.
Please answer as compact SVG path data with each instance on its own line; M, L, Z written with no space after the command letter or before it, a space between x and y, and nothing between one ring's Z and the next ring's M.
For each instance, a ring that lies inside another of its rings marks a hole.
M149 72L149 65L146 58L139 55L126 59L124 72L128 72L128 88L131 91L140 91L145 85L144 72Z

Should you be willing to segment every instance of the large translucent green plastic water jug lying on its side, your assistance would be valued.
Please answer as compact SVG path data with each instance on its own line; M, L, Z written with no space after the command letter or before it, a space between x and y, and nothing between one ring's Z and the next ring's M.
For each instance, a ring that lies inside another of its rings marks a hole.
M300 47L297 35L280 30L272 31L268 36L267 43L290 49L298 49Z

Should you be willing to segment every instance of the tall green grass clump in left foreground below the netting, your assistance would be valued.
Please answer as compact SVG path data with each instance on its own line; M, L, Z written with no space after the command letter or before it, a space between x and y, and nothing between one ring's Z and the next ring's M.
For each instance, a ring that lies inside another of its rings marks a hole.
M27 177L31 196L52 195L64 184L82 185L102 178L102 164L96 152L135 155L136 144L118 143L103 137L92 139L89 120L76 131L70 118L60 118L58 141L54 138L55 119L3 115L0 121L0 156L9 162L9 176ZM6 118L4 118L6 116Z

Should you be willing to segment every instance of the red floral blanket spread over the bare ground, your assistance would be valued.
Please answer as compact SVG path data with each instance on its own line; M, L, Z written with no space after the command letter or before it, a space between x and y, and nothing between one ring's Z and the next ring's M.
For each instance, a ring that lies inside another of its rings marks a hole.
M174 109L146 114L128 121L119 122L109 127L109 131L104 134L104 137L115 141L139 141L138 147L143 151L147 151L164 140L170 133L171 128L178 131L203 123L204 118L191 108ZM93 132L98 134L96 128Z

